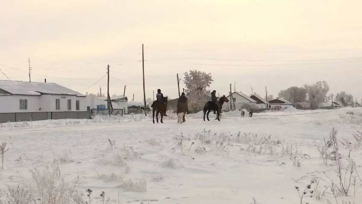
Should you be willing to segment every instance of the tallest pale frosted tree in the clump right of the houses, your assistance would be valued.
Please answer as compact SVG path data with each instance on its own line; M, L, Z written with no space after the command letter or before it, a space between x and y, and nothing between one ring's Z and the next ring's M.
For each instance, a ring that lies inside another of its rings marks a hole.
M329 85L326 81L317 81L312 85L304 85L307 89L308 102L311 104L312 109L316 109L320 103L329 101Z

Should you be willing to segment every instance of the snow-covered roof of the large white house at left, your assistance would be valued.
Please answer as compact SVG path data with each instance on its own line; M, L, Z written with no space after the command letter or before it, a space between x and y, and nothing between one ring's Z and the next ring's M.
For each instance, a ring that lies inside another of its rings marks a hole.
M0 89L13 95L66 94L85 96L56 83L0 80Z

